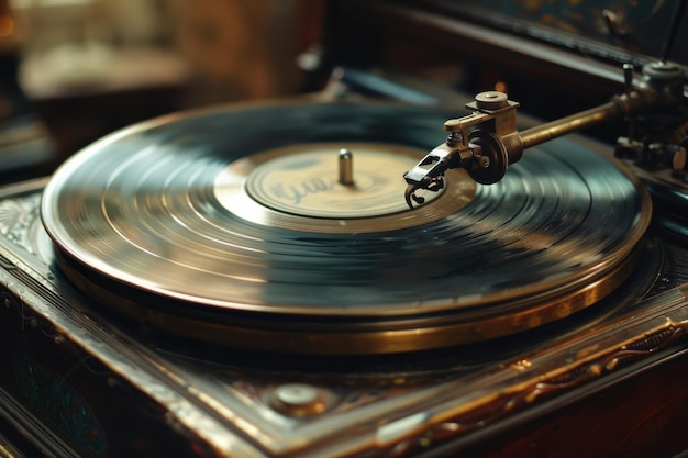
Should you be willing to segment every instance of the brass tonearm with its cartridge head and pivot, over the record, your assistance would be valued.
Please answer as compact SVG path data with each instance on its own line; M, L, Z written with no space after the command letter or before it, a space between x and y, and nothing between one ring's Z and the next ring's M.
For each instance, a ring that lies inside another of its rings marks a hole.
M507 167L518 161L525 148L603 121L654 112L675 113L678 124L685 123L680 113L684 100L684 71L664 62L648 64L643 77L633 80L633 68L624 66L625 92L599 107L519 132L519 103L498 91L481 92L466 108L473 112L444 123L450 132L445 143L430 152L415 167L404 174L408 187L406 200L410 208L424 203L415 194L419 189L439 191L444 187L444 172L463 168L479 183L492 185L504 176ZM676 126L677 127L677 126ZM630 129L626 143L633 143ZM675 167L685 167L685 147L672 148L683 160L669 160Z

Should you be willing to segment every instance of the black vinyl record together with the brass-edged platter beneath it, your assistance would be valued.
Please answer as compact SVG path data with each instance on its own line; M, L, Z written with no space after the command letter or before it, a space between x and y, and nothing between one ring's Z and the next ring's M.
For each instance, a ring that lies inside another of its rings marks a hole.
M98 303L259 349L476 342L617 288L650 200L575 139L528 150L489 187L448 175L445 192L406 208L402 172L454 114L284 103L163 118L69 159L45 189L42 219L59 267ZM335 177L342 148L353 183Z

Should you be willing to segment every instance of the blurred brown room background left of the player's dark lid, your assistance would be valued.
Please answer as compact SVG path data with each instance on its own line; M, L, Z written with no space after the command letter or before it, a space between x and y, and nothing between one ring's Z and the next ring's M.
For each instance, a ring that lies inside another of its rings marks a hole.
M0 170L159 114L308 90L298 59L322 3L0 0Z

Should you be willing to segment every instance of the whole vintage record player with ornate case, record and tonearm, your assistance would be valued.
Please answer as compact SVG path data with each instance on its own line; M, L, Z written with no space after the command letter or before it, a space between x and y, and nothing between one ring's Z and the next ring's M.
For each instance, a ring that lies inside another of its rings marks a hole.
M331 2L322 91L7 185L1 454L684 456L685 2L540 3Z

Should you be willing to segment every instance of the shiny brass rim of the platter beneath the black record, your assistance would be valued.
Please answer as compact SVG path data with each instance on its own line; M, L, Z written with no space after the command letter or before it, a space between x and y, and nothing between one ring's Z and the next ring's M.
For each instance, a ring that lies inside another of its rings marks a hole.
M430 325L428 322L413 323L413 319L409 321L403 317L396 326L389 322L367 323L367 326L355 323L349 327L332 322L295 326L293 323L280 321L265 322L260 317L249 317L251 324L242 325L242 316L218 314L211 314L211 320L208 316L203 320L204 316L141 308L137 302L123 299L112 289L99 287L98 282L91 281L77 269L66 270L65 273L78 284L86 284L87 295L102 299L102 304L109 310L123 313L144 328L171 336L256 351L382 355L476 344L528 332L569 317L615 291L636 266L637 257L637 249L634 249L603 276L589 278L584 288L576 291L550 291L544 298L541 295L524 299L520 303L510 304L510 309L514 310L509 313L492 313L487 319L479 315L476 316L477 320L468 321L462 316L431 315L430 320L435 323ZM537 303L537 306L532 306L533 303Z

